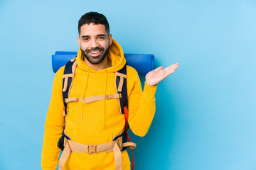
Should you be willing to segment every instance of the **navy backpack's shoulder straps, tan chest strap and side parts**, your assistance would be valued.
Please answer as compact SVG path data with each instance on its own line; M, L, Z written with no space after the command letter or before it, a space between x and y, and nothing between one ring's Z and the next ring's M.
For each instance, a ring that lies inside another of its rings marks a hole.
M78 98L69 98L70 89L73 84L73 77L75 76L75 68L77 66L76 59L73 58L70 60L66 65L63 73L63 116L68 114L68 103L70 101L76 101ZM95 99L93 97L88 97L92 101L102 100L104 98L110 99L110 98L118 98L119 100L119 108L120 112L124 115L125 118L125 125L124 130L119 133L119 135L115 136L112 141L119 139L122 137L122 143L132 142L128 135L129 130L129 124L128 124L128 97L127 97L127 65L125 64L122 69L116 72L116 79L115 79L117 94L111 94L106 96L97 96L98 98ZM100 98L100 99L99 99ZM82 101L84 98L82 98ZM65 148L65 139L70 140L70 137L65 134L65 129L63 130L63 135L60 137L60 140L58 140L58 147L63 151ZM136 146L136 145L135 145ZM129 149L132 149L132 169L134 169L134 155L133 155L133 149L135 146L127 146ZM127 147L122 147L121 151L127 149Z

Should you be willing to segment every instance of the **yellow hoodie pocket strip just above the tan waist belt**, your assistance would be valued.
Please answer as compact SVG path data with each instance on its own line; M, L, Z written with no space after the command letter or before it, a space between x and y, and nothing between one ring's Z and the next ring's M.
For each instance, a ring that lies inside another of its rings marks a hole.
M100 145L112 141L112 133L89 133L74 130L71 139L83 145Z

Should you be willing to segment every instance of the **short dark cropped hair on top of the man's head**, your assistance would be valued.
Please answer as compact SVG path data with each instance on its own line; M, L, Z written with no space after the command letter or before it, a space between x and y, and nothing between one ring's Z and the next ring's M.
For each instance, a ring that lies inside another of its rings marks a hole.
M78 21L79 35L81 33L81 26L83 26L85 24L89 25L90 23L94 23L95 25L98 25L98 24L104 25L107 33L110 34L110 25L107 21L107 18L101 13L89 12L89 13L85 13L85 15L81 16L80 20Z

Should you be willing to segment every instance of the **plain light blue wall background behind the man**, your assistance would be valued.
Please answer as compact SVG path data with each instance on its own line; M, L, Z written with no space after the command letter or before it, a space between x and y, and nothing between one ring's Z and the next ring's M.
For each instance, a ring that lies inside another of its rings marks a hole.
M256 169L256 1L0 1L0 169L41 169L51 55L104 13L126 53L180 63L156 92L136 169ZM143 78L142 78L143 79Z

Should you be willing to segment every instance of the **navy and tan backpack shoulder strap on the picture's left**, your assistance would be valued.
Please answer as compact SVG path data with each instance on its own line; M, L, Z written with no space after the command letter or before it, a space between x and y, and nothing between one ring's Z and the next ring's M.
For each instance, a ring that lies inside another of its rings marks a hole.
M63 73L63 103L64 103L63 116L68 114L68 102L66 102L66 98L68 98L70 94L73 78L75 76L76 66L77 66L77 62L75 58L73 58L67 64L65 64L65 69Z

